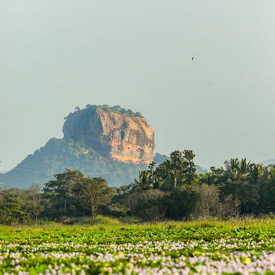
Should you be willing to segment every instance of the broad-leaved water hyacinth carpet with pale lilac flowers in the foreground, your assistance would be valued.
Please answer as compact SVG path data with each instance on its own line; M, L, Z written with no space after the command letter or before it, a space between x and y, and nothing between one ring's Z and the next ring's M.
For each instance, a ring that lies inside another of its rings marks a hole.
M275 274L274 232L182 238L158 230L144 239L142 231L128 232L125 243L118 232L2 240L0 274Z

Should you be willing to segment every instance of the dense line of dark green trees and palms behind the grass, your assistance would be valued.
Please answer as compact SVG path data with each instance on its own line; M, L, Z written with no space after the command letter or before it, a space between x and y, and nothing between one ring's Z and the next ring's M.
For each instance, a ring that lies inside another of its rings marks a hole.
M157 157L161 157L157 156ZM66 169L45 184L0 192L0 223L31 219L103 215L134 216L145 221L273 211L275 165L232 158L224 167L197 174L191 150L171 152L159 166L149 164L131 184L110 187L103 178Z

